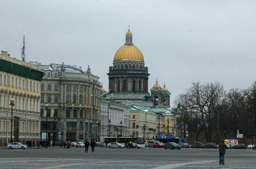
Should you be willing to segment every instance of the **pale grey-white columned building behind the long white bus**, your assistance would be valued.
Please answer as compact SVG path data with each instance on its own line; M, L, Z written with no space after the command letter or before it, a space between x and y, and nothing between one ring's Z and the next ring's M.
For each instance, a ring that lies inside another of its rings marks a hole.
M105 91L103 87L101 88L101 90ZM100 118L101 142L104 142L104 138L109 137L110 135L112 135L113 137L129 137L129 106L117 103L105 97L101 97ZM121 131L118 130L118 128L120 128Z

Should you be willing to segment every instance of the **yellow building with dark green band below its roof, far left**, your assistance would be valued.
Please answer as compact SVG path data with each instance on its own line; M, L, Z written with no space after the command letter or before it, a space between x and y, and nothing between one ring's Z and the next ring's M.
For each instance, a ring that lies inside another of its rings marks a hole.
M0 145L12 140L40 140L40 82L44 73L39 66L0 54ZM13 124L11 99L14 99ZM12 130L11 130L12 124Z

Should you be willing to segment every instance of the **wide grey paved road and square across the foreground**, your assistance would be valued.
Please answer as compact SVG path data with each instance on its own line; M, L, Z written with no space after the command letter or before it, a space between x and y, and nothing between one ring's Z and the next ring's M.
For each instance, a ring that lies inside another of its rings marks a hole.
M163 148L0 149L0 168L219 168L218 149ZM225 167L255 168L256 150L227 149Z

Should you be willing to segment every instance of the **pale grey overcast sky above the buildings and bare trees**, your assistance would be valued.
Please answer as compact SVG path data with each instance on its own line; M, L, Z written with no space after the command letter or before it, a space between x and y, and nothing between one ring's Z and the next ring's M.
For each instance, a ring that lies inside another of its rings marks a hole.
M90 65L108 88L108 69L125 42L148 66L171 103L195 82L221 82L226 90L255 81L256 1L1 1L0 50L26 61Z

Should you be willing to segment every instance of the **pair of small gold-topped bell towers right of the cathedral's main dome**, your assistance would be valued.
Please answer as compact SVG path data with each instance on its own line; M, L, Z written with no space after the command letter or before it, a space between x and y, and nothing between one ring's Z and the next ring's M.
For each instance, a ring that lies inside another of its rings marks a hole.
M165 87L162 88L158 81L156 84L150 89L151 92L151 101L154 102L154 107L170 107L170 95L171 92Z

